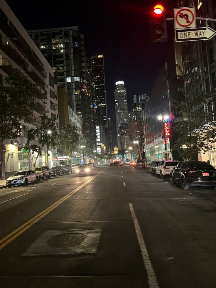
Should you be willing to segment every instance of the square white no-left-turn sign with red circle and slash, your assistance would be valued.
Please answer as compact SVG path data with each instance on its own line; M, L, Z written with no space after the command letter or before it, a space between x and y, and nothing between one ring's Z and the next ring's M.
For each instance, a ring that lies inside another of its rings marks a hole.
M174 26L179 28L195 28L196 10L195 7L174 8Z

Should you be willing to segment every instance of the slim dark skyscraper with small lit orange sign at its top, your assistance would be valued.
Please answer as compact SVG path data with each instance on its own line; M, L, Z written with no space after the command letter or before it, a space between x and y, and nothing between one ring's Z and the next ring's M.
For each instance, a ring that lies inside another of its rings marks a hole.
M106 85L104 74L104 56L96 55L91 56L91 71L94 78L95 95L94 106L100 109L102 114L101 125L104 128L108 127L107 117L107 97L106 97Z

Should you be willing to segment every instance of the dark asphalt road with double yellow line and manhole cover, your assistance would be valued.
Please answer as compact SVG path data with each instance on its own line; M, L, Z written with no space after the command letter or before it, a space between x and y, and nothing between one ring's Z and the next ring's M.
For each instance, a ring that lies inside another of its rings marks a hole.
M1 288L216 287L216 193L95 167L0 190Z

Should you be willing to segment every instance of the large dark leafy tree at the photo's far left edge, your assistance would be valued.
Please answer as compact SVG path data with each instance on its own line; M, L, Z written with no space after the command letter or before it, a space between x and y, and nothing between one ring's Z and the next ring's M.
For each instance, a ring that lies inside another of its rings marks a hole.
M5 140L18 142L22 120L28 122L32 115L34 97L32 83L19 71L5 77L9 87L0 88L0 149Z

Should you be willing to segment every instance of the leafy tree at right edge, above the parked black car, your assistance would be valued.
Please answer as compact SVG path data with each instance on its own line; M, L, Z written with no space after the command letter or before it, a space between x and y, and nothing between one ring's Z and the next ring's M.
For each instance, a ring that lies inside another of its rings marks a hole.
M184 160L197 160L198 152L215 149L216 121L212 106L215 106L213 94L195 95L187 105L184 101L175 101L171 127L178 137L172 149Z

